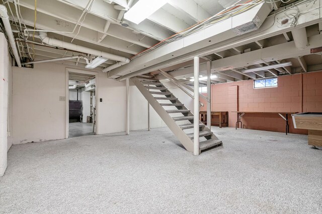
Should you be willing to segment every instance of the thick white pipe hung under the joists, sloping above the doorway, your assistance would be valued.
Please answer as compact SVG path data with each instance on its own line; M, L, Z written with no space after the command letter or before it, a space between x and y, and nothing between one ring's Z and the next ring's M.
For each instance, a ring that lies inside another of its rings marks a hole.
M110 54L107 52L98 51L98 50L95 50L92 48L87 48L84 46L79 46L79 45L75 45L72 43L63 42L61 40L49 38L49 37L47 37L47 33L45 33L45 32L39 32L39 37L42 40L42 42L47 45L60 47L60 48L66 48L66 49L74 50L77 52L88 53L88 54L99 56L99 57L105 57L110 60L124 62L125 64L130 62L130 59L128 59L126 57L121 57L121 56Z

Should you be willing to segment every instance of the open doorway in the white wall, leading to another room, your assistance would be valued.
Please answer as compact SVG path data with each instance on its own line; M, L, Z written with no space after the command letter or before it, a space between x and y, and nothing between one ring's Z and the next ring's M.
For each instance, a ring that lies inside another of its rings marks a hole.
M95 75L68 72L68 137L95 134Z

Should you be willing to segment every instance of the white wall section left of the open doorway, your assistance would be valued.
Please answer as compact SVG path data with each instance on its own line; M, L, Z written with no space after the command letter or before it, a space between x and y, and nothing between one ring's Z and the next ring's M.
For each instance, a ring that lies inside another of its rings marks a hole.
M65 137L65 68L13 67L13 144Z

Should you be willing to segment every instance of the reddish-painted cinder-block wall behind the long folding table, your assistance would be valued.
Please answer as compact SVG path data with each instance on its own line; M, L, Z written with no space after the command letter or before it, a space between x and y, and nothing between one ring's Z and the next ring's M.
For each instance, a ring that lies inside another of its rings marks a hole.
M274 88L254 89L253 80L238 81L213 85L212 111L228 111L229 126L234 127L237 114L233 113L230 97L230 86L238 87L237 105L238 111L247 112L321 112L322 111L322 72L310 72L302 74L278 77L278 86ZM301 109L302 96L302 109ZM206 107L201 108L206 110ZM253 113L245 114L241 121L243 128L285 132L285 120L278 114ZM306 134L307 130L294 129L289 116L291 133Z

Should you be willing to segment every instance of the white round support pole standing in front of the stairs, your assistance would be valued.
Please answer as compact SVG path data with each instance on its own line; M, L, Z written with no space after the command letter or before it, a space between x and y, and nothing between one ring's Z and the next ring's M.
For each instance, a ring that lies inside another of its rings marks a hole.
M194 57L193 154L199 155L199 57Z

